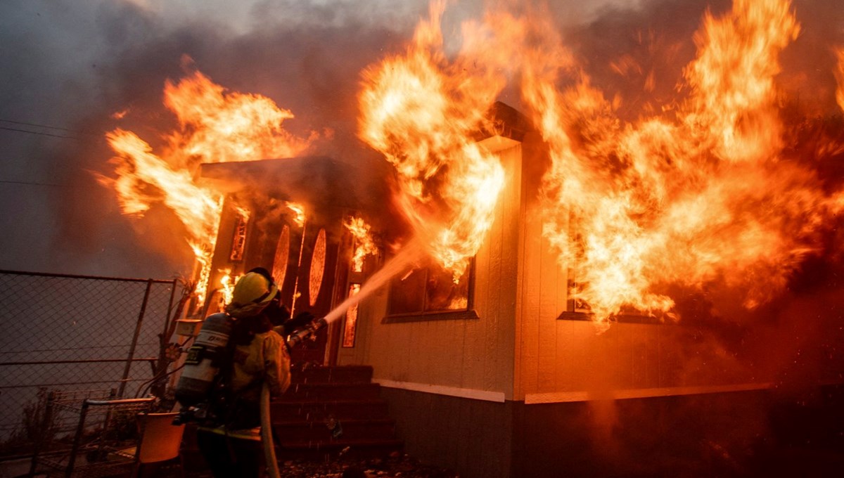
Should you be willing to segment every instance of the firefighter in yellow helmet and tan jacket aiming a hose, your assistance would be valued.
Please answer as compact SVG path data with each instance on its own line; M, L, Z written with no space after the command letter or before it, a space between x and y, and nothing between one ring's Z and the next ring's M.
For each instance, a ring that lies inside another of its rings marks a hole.
M252 269L235 284L226 314L234 320L219 384L210 392L213 413L197 428L197 442L217 478L261 476L260 395L266 382L272 396L290 384L290 357L284 337L284 306L273 277ZM298 318L298 317L297 317Z

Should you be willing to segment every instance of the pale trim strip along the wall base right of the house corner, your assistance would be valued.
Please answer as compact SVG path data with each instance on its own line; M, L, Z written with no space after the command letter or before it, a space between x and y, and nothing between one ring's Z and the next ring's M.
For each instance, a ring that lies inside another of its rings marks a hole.
M526 394L525 405L537 403L560 403L589 400L624 400L634 398L663 397L674 395L720 394L725 392L743 392L749 390L771 389L769 382L759 384L700 385L692 387L658 387L653 389L623 389L590 392L578 390L572 392L552 392L548 394Z

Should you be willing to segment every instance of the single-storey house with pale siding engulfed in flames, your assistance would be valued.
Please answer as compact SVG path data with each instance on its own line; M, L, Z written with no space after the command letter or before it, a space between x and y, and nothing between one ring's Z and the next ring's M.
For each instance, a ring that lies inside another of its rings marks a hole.
M329 323L295 358L371 366L408 453L462 475L748 466L788 353L766 355L771 336L736 317L790 307L777 298L806 260L840 246L830 229L844 205L840 178L813 163L841 158L841 133L818 133L806 155L783 120L779 56L800 32L791 3L706 13L683 95L642 102L633 119L548 22L490 14L464 25L450 57L442 8L362 75L358 136L380 153L378 174L360 176L373 169L354 153L306 155L318 135L284 132L292 114L274 105L256 127L178 100L243 99L201 74L168 83L191 126L169 151L187 151L176 163L195 174L181 180L202 184L187 195L207 197L181 208L201 224L196 314L267 267L294 314ZM836 57L826 96L844 108ZM642 70L632 56L612 67ZM509 81L518 110L495 101ZM211 141L200 125L252 136ZM129 148L131 133L110 139L127 169L174 164ZM825 339L816 384L841 383L840 340Z

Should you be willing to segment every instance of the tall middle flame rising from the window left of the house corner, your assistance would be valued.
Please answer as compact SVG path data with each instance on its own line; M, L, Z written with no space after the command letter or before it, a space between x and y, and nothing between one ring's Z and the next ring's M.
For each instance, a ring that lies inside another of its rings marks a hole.
M472 134L503 78L470 54L446 60L444 3L433 2L403 55L364 73L360 137L398 173L397 203L430 254L461 277L490 228L504 170Z

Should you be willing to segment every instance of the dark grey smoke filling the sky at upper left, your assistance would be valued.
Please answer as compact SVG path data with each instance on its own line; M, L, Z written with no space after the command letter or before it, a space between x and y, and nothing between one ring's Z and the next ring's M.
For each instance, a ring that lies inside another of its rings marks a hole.
M176 127L162 89L184 74L185 55L225 88L293 110L295 120L285 123L293 132L333 135L315 153L351 164L373 158L355 134L359 73L403 43L424 5L384 3L378 12L378 3L216 3L216 10L154 0L0 6L0 119L62 128L0 132L8 143L2 180L10 181L2 190L9 234L0 267L190 273L192 254L170 212L124 217L113 191L95 182L95 174L113 175L106 132L121 126L156 148ZM121 120L112 117L118 112Z

